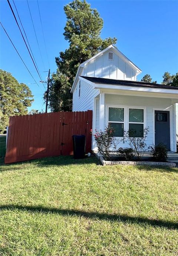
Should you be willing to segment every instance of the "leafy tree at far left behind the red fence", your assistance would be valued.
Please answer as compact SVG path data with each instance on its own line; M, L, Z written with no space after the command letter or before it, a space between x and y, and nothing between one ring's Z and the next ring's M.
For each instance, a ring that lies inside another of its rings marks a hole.
M9 72L0 70L0 130L4 130L11 115L26 115L32 105L29 87L19 83Z

